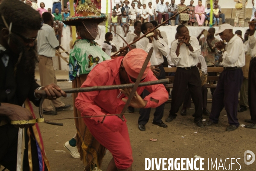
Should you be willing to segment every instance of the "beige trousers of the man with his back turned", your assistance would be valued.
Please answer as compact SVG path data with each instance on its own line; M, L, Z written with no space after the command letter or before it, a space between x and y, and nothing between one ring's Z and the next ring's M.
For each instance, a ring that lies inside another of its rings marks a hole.
M38 68L40 74L41 86L49 85L51 83L57 84L57 79L53 70L52 57L46 57L43 55L38 55ZM63 107L65 104L61 102L60 98L56 100L45 99L42 105L45 111L52 111L51 102L55 108Z

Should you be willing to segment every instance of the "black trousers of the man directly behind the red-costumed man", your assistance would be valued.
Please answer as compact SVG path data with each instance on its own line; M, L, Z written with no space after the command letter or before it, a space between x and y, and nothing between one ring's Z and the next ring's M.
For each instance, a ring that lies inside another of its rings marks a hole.
M160 69L160 75L157 76L158 80L165 79L165 71L163 69L163 66L159 66ZM147 90L143 91L143 99L148 96L150 93ZM162 122L162 117L163 117L163 109L164 109L164 103L156 108L156 111L154 112L154 119L153 122L161 123ZM143 124L145 125L148 123L149 117L150 117L150 111L151 108L141 108L140 109L140 117L138 120L138 124Z

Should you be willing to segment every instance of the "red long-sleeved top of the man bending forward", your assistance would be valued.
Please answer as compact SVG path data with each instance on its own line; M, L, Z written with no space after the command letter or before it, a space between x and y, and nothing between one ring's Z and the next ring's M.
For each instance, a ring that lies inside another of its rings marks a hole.
M117 57L113 60L106 60L96 65L88 74L86 81L81 87L92 87L96 85L120 85L119 68L123 57ZM142 82L157 80L151 70ZM144 100L148 101L145 108L156 108L168 100L168 92L163 84L149 85L138 87L137 93L141 94L143 90L148 90L151 94L146 96ZM118 89L107 91L90 91L79 93L76 98L76 108L81 112L82 116L99 116L105 114L120 114L125 102L122 98L126 98L124 94L120 94ZM150 98L159 100L155 103ZM101 122L103 117L92 117L91 120Z

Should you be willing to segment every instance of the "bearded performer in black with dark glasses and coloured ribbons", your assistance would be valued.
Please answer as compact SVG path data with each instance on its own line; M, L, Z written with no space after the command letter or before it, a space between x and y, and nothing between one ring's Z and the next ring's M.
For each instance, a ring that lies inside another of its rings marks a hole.
M29 15L27 15L29 14ZM0 165L10 171L48 171L49 162L38 125L20 125L10 120L35 118L32 101L39 105L35 89L45 90L49 100L64 91L55 85L35 83L35 39L41 28L40 14L18 0L0 5ZM23 107L21 107L23 106ZM17 164L16 164L17 163Z

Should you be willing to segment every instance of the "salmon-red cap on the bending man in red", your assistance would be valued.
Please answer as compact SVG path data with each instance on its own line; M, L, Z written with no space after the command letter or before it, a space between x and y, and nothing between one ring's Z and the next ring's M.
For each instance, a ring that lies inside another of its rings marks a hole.
M139 76L140 70L143 66L143 63L145 62L145 59L147 57L148 53L145 52L143 49L135 48L131 51L129 51L122 63L125 67L125 71L127 74L133 78L137 78ZM144 71L144 74L141 79L145 78L148 74L149 67L151 66L151 63L148 62L147 68Z

